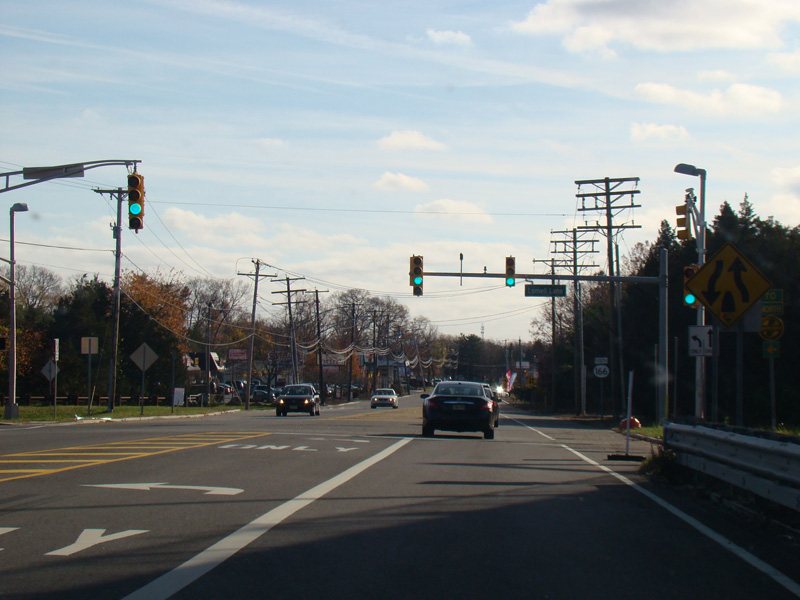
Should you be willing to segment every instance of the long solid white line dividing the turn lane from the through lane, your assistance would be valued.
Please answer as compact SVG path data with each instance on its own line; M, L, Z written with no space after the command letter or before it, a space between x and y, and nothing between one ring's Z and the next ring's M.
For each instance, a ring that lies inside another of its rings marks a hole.
M164 575L158 579L151 581L146 586L125 596L123 600L166 600L220 565L223 561L236 554L248 544L260 538L284 519L291 517L298 510L305 508L315 500L322 498L325 494L347 483L363 471L379 463L384 458L394 454L411 440L412 438L403 438L385 450L378 452L376 455L342 471L328 481L320 483L296 498L273 508L271 511L254 519L238 531L234 531L226 538L209 546L182 565L175 567L172 571L164 573Z

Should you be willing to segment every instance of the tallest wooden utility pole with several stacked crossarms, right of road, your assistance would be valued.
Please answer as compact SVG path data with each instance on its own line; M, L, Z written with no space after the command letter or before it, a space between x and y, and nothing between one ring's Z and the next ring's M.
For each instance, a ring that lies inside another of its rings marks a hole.
M633 189L621 189L625 184L633 184ZM606 237L608 244L607 260L608 260L608 275L609 277L615 276L614 268L614 236L616 232L624 229L638 229L639 225L622 224L615 225L614 218L621 214L623 211L632 210L634 208L641 208L640 205L634 204L634 196L639 194L636 186L639 184L638 177L622 177L622 178L609 178L603 179L587 179L583 181L576 181L578 186L578 193L575 195L581 201L581 207L578 209L581 212L595 211L605 216L605 224L600 221L595 221L594 225L582 225L578 229L586 231L597 231ZM591 192L581 193L581 186L590 186ZM619 265L616 268L616 275L619 275ZM614 417L618 416L617 407L622 406L622 398L625 396L625 383L624 373L618 368L618 360L621 360L621 348L617 347L615 343L615 330L617 329L617 289L618 283L613 279L608 282L608 346L609 346L609 367L611 369L611 402L614 412ZM619 355L619 356L618 356ZM621 379L621 392L617 391L616 379L614 374L619 372Z

